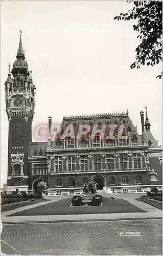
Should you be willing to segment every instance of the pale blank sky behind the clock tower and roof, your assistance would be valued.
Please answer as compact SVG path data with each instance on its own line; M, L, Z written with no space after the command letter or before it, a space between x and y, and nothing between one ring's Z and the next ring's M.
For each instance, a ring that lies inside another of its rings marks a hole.
M125 1L1 2L1 185L7 181L5 86L19 30L36 86L33 127L64 115L126 112L141 134L147 105L151 132L162 142L161 66L130 69L139 44L133 21L114 20ZM33 138L33 141L35 139Z

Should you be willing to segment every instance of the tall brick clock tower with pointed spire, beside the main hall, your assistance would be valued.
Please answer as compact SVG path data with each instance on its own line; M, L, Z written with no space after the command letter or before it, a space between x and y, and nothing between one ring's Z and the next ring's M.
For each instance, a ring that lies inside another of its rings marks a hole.
M28 148L32 140L32 120L36 88L28 70L21 34L13 69L5 82L6 112L9 121L7 192L28 191Z

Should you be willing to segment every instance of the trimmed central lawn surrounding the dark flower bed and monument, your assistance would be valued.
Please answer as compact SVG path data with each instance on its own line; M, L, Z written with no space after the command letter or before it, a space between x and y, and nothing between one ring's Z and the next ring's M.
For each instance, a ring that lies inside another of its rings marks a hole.
M9 216L72 215L72 214L113 214L122 212L145 212L123 199L103 197L103 206L70 207L72 198L62 199L46 205L20 211Z

